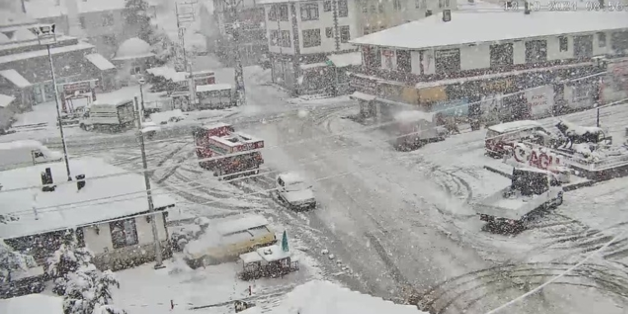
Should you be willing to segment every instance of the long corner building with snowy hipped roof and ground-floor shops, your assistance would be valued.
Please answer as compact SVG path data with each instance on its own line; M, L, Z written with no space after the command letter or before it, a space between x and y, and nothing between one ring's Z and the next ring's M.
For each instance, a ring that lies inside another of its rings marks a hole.
M499 106L525 114L530 100L512 93L543 85L549 87L548 99L553 95L555 101L539 114L560 111L565 102L573 109L592 107L600 97L606 101L625 97L628 85L621 87L620 82L628 82L624 77L628 73L621 69L628 63L616 62L628 56L624 12L461 12L450 19L446 15L351 41L359 46L363 60L351 85L424 111L477 105L469 106L465 114L482 112L482 97L495 94L511 95ZM595 75L565 81L603 71L605 63L614 68L609 72L617 76L610 79L620 83L616 88L600 91L600 76ZM521 110L513 109L517 106Z

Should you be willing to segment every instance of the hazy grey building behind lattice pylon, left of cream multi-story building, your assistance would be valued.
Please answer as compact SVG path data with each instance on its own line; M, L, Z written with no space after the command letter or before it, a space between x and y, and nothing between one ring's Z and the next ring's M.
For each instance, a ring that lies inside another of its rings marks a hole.
M221 62L234 65L233 51L238 48L242 64L252 65L268 51L266 42L266 28L264 28L264 8L256 0L213 0L214 23L219 29L216 54ZM234 16L230 5L237 5L237 15ZM203 16L201 16L203 18ZM239 38L237 47L232 40L234 19L239 24Z

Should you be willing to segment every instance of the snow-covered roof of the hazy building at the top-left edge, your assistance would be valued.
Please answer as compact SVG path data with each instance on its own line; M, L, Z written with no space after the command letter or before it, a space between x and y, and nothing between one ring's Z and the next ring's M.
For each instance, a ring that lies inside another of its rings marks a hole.
M59 1L60 5L56 5ZM99 11L112 11L124 9L126 0L75 0L78 13L90 13ZM153 1L147 1L149 5ZM65 0L30 0L24 2L26 14L32 18L51 18L54 16L66 15L67 6Z

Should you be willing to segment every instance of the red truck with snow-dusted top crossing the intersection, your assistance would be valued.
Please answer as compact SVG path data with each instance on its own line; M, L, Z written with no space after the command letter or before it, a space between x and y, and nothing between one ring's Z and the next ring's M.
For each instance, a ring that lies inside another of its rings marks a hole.
M199 159L230 155L198 162L202 168L213 170L215 176L229 179L232 176L229 178L226 176L231 174L235 174L233 176L257 174L259 165L264 163L262 154L259 152L259 149L264 148L264 141L236 132L230 124L220 123L196 127L193 135ZM244 153L247 151L251 152Z

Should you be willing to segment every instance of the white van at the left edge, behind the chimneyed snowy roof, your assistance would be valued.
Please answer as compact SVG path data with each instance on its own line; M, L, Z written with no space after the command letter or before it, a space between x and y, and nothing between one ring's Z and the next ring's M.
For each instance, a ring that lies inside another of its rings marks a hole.
M0 143L0 171L60 161L63 154L31 139Z

